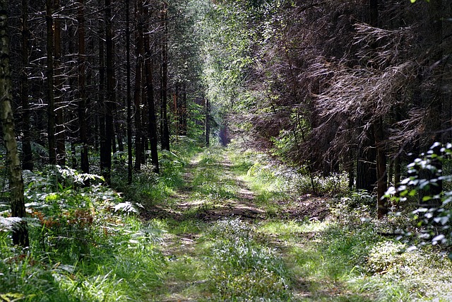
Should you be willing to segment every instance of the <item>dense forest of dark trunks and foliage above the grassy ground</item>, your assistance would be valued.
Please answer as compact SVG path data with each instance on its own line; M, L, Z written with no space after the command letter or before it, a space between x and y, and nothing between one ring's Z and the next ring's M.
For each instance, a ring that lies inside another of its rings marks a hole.
M450 243L450 0L2 0L0 15L14 244L49 223L22 172L29 189L52 175L64 192L70 174L131 190L169 181L187 140L270 153L314 196L346 179L378 219L415 207L420 238Z

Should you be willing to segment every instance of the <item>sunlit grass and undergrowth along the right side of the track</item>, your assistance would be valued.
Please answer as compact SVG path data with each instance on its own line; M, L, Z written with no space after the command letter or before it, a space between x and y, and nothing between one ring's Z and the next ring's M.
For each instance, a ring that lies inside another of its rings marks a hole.
M230 157L258 196L278 207L279 217L285 211L280 204L296 207L297 194L312 193L306 175L268 156L242 150ZM375 197L349 192L345 175L314 180L318 194L333 197L325 199L328 219L274 218L257 226L266 245L280 247L287 284L299 293L295 301L451 301L452 265L446 253L432 248L404 252L408 246L397 240L397 230L413 226L408 213L376 220Z

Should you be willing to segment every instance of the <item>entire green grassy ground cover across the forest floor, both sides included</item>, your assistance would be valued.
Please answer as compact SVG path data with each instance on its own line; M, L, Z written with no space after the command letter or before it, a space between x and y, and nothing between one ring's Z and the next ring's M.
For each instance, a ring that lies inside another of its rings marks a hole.
M130 187L117 176L122 198L29 175L32 245L0 231L0 301L451 300L451 261L436 248L400 252L379 232L409 221L371 219L367 194L326 201L328 219L297 219L292 172L268 156L193 141L160 156L161 175L143 165ZM233 211L245 206L263 215Z

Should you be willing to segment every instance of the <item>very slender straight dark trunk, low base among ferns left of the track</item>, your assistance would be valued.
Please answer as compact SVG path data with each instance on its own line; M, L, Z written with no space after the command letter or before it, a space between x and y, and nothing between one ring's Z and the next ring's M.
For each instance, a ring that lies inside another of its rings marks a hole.
M126 98L127 98L127 182L132 183L132 97L131 97L131 66L130 66L130 7L126 0Z

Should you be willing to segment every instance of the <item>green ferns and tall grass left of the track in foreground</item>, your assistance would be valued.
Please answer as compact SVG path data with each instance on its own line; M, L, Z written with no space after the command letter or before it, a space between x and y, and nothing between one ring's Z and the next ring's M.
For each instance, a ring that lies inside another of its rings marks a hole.
M30 247L12 246L1 225L0 301L141 301L161 282L161 231L136 205L69 168L25 176Z

